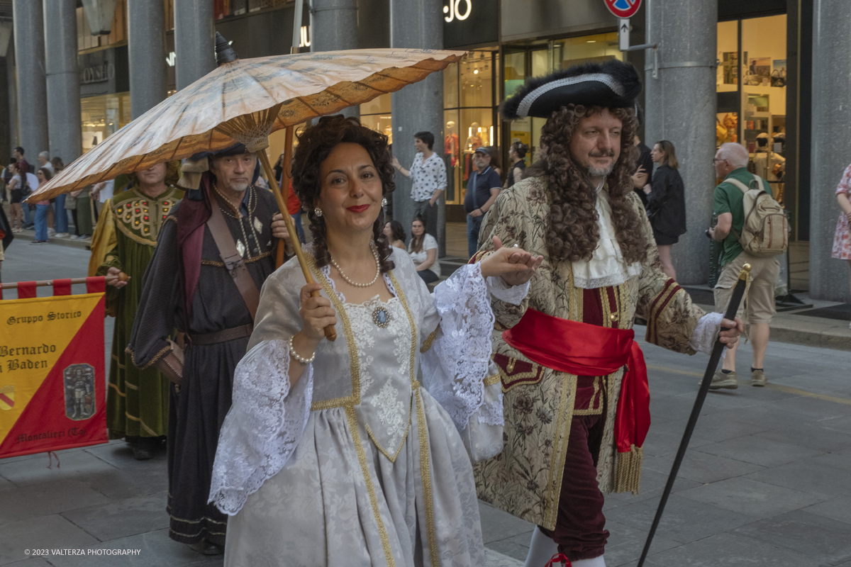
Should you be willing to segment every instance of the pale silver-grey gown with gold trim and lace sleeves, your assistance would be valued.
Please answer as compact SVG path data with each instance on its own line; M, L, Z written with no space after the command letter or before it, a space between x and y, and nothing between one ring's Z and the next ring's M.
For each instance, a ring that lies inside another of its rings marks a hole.
M405 252L392 260L394 297L361 304L312 266L338 338L294 388L304 277L290 261L266 281L213 470L226 565L484 564L471 459L501 451L503 419L490 298L520 303L528 286L473 264L432 295Z

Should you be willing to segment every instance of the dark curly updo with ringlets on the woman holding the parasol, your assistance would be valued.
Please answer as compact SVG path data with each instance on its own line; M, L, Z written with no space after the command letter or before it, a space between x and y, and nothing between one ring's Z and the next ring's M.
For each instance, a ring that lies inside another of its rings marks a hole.
M372 158L375 170L381 179L383 196L396 189L393 181L395 170L391 165L390 151L387 149L387 137L361 126L357 118L346 118L341 114L323 116L319 122L306 128L299 136L299 145L293 156L293 189L307 209L307 218L311 220L313 235L313 257L317 267L331 263L328 253L328 227L324 217L317 217L315 208L322 192L320 169L334 147L339 144L360 144ZM373 241L378 249L381 272L388 272L395 266L390 260L392 248L383 237L384 210L382 209L373 224Z

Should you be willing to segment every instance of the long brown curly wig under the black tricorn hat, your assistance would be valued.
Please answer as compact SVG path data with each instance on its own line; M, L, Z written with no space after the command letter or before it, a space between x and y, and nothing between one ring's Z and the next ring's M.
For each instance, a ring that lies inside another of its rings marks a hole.
M623 123L620 133L620 157L608 175L608 201L612 207L614 235L627 263L647 258L648 241L641 219L630 201L631 175L635 171L633 138L638 122L630 108L608 109ZM582 118L603 111L599 106L567 105L552 113L540 131L545 156L528 168L526 177L547 180L551 201L547 215L546 242L551 260L588 261L600 230L597 226L597 188L587 170L570 156L570 140Z

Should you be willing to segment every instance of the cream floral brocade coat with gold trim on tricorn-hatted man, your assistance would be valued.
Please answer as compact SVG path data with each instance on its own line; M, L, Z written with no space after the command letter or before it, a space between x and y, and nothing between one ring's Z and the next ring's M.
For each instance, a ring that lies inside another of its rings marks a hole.
M604 494L638 490L640 449L637 459L620 459L622 465L631 461L621 470L616 462L614 417L624 369L606 377L577 377L554 371L535 364L505 343L502 331L516 325L528 308L587 322L583 317L585 301L589 294L599 293L603 326L630 329L639 315L648 321L648 343L694 354L689 339L698 320L705 315L692 304L688 293L661 271L653 230L641 200L633 192L628 198L642 219L648 258L640 275L616 286L581 289L574 286L571 262L550 261L546 247L550 201L545 179L523 179L503 190L488 211L479 235L479 253L492 249L493 236L499 236L503 246L517 244L543 256L544 262L534 275L523 303L516 306L498 299L492 303L496 317L494 361L500 367L505 396L504 448L500 455L474 466L477 492L485 502L549 530L556 525L572 418L581 415L580 412L605 413L603 441L597 455L600 490ZM578 386L580 392L590 394L577 396Z

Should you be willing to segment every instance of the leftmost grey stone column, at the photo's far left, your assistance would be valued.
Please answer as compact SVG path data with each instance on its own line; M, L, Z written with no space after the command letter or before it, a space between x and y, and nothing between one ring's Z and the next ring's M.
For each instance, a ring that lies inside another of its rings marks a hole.
M18 79L18 140L26 151L26 161L36 164L38 152L48 149L43 5L37 0L14 0L12 8Z

